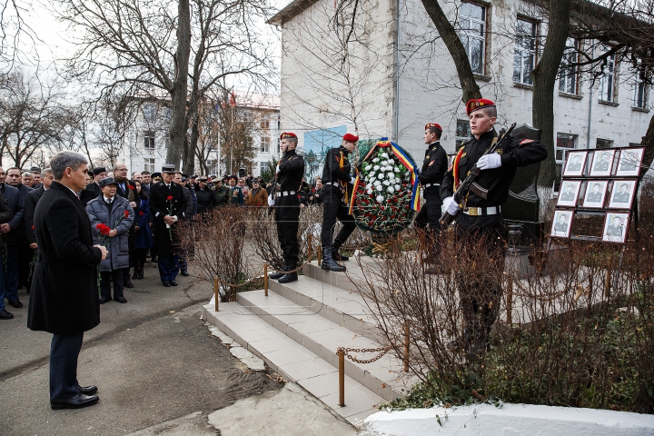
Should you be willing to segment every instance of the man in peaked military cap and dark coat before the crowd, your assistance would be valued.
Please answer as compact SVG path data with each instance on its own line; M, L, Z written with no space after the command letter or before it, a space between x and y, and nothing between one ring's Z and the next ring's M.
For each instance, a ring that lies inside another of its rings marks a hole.
M173 183L174 166L164 164L163 181L150 188L150 215L154 220L153 253L159 258L159 276L163 286L177 286L180 238L176 232L186 211L183 187Z

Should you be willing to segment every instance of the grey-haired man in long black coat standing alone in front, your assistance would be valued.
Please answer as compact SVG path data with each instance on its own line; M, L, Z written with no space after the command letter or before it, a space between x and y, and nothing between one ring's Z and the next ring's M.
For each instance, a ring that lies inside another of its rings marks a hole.
M50 162L55 182L35 210L39 253L27 327L53 333L50 405L54 410L98 401L97 387L82 387L77 381L84 332L100 323L96 267L107 254L103 246L94 246L91 223L76 195L86 184L86 162L84 154L55 154Z

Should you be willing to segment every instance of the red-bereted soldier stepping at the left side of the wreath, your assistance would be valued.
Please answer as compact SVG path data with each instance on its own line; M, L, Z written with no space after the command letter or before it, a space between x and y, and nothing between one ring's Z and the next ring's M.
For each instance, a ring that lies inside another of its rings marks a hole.
M359 136L345 134L339 148L327 152L322 169L322 264L323 270L345 271L345 267L336 261L347 261L349 258L338 253L339 248L354 232L356 224L354 217L348 213L346 202L352 196L354 178L350 175L351 165L348 154L354 151ZM342 223L339 232L332 243L332 233L336 219Z

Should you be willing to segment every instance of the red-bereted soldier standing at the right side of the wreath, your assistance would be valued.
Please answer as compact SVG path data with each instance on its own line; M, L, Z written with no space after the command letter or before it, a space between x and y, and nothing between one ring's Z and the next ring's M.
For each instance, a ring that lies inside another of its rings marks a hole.
M429 263L437 263L438 256L441 253L441 242L439 240L441 235L441 223L439 222L442 205L441 183L447 170L448 160L447 153L445 153L445 149L440 142L441 134L441 124L430 123L425 125L424 141L428 146L425 151L424 161L422 161L421 173L418 175L425 203L413 222L416 229L423 231L426 230L427 224L429 224L429 232L427 233L429 243L427 262ZM426 272L433 274L438 270L431 267Z

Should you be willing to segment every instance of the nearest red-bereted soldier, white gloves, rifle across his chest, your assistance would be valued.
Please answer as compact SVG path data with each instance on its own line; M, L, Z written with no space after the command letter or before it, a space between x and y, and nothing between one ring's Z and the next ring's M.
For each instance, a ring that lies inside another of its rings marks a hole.
M502 220L500 206L509 196L510 183L516 169L547 158L547 149L538 141L510 138L496 153L483 155L491 144L498 141L493 129L497 121L495 103L488 99L471 100L466 104L473 137L463 143L451 167L443 177L441 199L445 210L456 216L458 238L471 237L486 247L502 265L507 229ZM457 204L452 195L463 182L472 167L477 164L481 173L475 179L465 203L465 209ZM469 283L467 283L469 284ZM463 312L464 343L451 343L450 348L464 347L469 354L481 354L488 347L490 328L500 309L501 284L490 278L479 285L459 283L461 309Z

